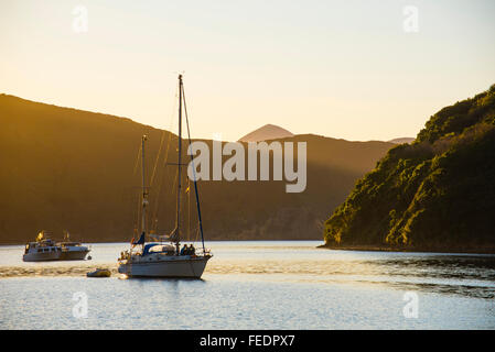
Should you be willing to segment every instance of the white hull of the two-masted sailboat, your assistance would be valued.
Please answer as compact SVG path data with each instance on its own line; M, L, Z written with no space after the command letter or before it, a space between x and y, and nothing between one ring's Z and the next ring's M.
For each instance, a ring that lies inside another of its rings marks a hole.
M119 273L128 277L169 277L201 278L209 256L172 256L160 261L141 260L132 263L121 263Z

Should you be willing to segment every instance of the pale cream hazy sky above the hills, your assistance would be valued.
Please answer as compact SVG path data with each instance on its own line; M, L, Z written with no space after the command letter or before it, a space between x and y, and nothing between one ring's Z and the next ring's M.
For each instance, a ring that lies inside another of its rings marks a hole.
M493 0L0 0L0 92L176 131L185 72L195 138L416 136L495 82L494 19Z

